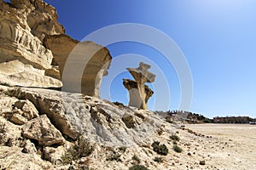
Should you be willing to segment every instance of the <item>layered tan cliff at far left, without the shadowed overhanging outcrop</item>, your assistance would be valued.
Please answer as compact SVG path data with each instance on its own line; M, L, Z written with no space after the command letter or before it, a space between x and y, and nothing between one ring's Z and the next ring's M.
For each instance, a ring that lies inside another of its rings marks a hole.
M61 87L59 80L45 74L53 70L53 56L42 42L45 35L64 33L55 8L41 0L12 0L11 3L0 5L1 83Z

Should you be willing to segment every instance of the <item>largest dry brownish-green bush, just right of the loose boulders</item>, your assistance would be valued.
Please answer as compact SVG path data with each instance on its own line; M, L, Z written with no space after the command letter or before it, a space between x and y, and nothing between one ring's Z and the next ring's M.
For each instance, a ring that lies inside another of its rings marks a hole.
M95 150L95 144L90 143L88 139L80 137L77 144L69 148L66 153L61 156L61 160L64 164L69 164L73 160L78 160L81 157L90 156Z

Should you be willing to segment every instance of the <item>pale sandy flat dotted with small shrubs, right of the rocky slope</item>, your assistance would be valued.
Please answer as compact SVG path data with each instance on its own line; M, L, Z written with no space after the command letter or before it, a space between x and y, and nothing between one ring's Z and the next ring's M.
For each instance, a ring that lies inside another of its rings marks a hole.
M170 126L166 124L166 128ZM177 145L181 153L172 150L172 134L179 136ZM127 148L121 162L104 161L106 156L100 153L91 157L94 169L128 170L134 164L133 155L141 160L141 165L150 170L256 170L256 125L241 124L185 124L185 127L172 128L154 140L166 144L167 156L160 156L163 162L153 161L159 156L150 147L150 142L142 147ZM148 147L147 147L148 145ZM201 165L201 161L205 164Z

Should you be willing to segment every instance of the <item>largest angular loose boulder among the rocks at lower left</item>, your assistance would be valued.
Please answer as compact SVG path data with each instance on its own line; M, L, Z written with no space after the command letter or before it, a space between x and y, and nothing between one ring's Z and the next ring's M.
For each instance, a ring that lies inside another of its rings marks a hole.
M63 144L64 139L46 115L32 119L22 127L22 133L27 139L35 139L39 145Z

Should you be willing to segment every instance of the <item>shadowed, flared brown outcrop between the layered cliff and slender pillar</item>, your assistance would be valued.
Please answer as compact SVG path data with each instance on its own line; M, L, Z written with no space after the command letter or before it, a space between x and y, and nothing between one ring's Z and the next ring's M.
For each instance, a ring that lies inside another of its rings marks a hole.
M60 67L64 91L100 96L102 77L108 75L112 59L107 48L94 42L78 42L67 35L47 36L44 45Z

